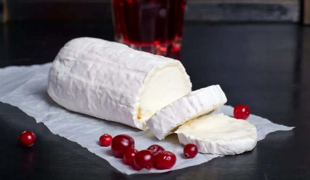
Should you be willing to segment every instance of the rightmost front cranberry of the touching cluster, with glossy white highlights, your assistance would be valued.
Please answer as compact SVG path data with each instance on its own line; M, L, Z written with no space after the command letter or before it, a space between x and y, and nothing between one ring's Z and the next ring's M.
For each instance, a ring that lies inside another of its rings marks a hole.
M155 166L157 169L166 170L172 168L176 163L176 156L170 151L161 151L155 156Z

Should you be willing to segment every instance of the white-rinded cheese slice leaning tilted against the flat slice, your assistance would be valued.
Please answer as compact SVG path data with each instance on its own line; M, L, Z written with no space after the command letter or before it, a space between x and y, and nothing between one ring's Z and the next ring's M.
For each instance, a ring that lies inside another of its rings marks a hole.
M226 102L227 98L219 85L208 86L192 91L158 110L146 124L162 140L189 119L215 111Z

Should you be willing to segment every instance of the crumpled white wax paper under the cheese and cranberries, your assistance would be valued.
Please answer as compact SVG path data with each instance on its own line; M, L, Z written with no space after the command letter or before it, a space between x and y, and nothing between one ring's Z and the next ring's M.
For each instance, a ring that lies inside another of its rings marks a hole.
M185 159L183 146L179 144L176 134L170 135L165 140L157 140L152 132L140 131L119 123L109 122L68 111L56 104L47 94L47 75L51 63L33 66L7 67L0 69L0 101L16 106L36 121L44 123L52 133L59 134L68 140L75 141L90 152L107 160L113 167L125 174L135 173L162 173L178 170L188 166L198 165L210 161L220 155L200 154L193 159ZM104 110L103 110L104 111ZM224 113L232 116L231 106L222 106L215 114ZM268 119L256 115L250 115L247 119L255 125L258 140L274 131L288 131L294 127L270 122ZM177 162L170 170L140 170L135 171L130 166L124 165L121 159L114 158L110 147L101 147L98 144L99 137L108 133L112 136L117 134L128 134L135 140L135 148L146 149L152 144L159 144L166 150L175 153ZM259 146L259 143L257 144Z

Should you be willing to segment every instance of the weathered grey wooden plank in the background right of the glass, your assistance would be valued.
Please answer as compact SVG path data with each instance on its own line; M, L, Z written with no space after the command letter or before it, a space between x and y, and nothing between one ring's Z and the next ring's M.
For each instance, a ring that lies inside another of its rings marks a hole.
M299 4L272 3L188 3L188 21L298 22Z

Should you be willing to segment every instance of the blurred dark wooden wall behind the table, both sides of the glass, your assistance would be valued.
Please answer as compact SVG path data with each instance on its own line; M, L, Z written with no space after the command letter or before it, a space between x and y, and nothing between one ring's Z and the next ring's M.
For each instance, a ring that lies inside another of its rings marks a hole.
M303 21L303 9L306 9L303 5L308 3L310 0L188 0L185 20L298 23ZM109 21L111 10L110 0L2 0L0 16L2 23L21 20Z

